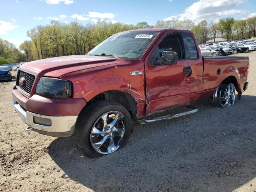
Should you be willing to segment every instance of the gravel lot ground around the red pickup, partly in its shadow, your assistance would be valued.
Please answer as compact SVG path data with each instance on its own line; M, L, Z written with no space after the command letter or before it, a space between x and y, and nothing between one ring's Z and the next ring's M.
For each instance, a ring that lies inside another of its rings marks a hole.
M198 102L196 114L134 123L126 145L90 159L73 138L26 132L14 114L15 81L0 82L1 191L256 191L256 52L249 87L234 106Z

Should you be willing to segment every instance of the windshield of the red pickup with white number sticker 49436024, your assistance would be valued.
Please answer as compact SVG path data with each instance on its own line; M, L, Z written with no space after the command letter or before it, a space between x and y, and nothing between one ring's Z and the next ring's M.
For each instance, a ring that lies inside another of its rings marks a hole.
M156 31L143 30L120 32L98 44L89 55L138 60L157 34Z

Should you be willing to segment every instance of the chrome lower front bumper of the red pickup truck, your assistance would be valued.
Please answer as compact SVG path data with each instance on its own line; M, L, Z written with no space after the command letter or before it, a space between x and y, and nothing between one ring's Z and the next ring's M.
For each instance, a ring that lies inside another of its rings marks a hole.
M14 108L20 118L28 124L32 130L44 135L54 137L68 137L72 136L76 119L78 116L46 116L41 114L32 113L24 110L20 104L14 103ZM51 120L51 125L46 126L34 122L34 117L46 118Z

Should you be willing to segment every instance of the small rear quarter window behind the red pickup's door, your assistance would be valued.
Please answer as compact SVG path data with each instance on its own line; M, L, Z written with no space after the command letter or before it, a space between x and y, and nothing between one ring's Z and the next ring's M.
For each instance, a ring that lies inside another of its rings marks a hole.
M194 39L189 33L183 32L182 33L183 42L185 46L185 58L186 59L197 59L198 52L196 50L196 44Z

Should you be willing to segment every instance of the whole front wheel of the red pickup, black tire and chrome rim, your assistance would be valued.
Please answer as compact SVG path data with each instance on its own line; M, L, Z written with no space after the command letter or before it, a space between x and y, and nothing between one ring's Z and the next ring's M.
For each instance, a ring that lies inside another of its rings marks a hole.
M100 100L79 114L74 136L86 156L93 158L113 153L128 142L131 117L124 106Z

